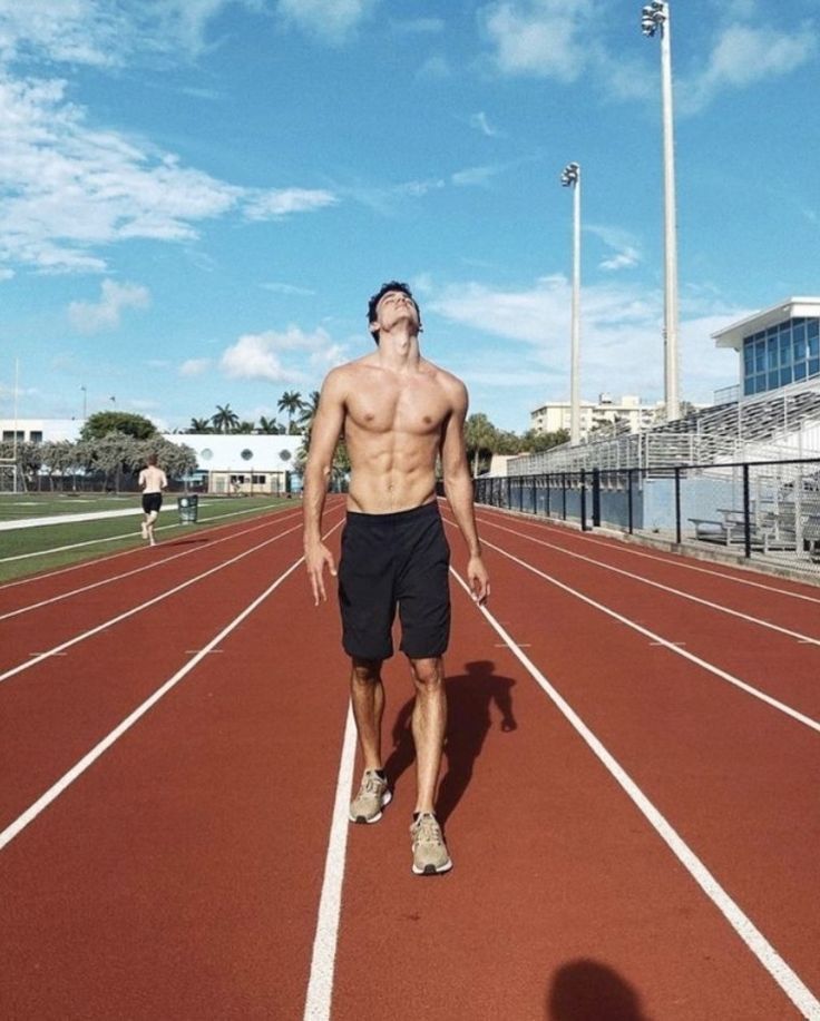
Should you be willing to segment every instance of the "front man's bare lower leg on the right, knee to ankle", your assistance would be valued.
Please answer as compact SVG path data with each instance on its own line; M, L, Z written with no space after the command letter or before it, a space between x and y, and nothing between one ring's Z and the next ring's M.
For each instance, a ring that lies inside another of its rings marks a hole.
M435 812L436 787L447 728L443 659L440 656L433 659L411 659L410 673L416 686L412 716L416 743L416 812Z

